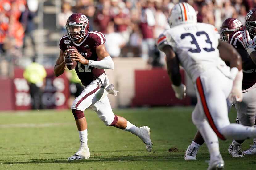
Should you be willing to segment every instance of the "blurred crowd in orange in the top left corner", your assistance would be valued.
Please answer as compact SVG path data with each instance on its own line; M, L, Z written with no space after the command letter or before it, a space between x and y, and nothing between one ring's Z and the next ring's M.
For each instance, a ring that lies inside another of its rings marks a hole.
M1 61L12 62L22 57L26 37L31 38L35 52L32 32L35 29L33 18L37 8L37 0L0 0ZM1 62L1 71L8 71L8 69L3 69L6 66L4 62Z

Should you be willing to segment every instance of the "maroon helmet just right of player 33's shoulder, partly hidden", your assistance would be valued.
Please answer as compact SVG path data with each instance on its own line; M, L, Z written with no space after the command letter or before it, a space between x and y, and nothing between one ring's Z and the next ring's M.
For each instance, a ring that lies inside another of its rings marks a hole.
M221 37L223 41L229 41L229 35L234 31L242 29L242 23L236 18L226 19L221 26Z

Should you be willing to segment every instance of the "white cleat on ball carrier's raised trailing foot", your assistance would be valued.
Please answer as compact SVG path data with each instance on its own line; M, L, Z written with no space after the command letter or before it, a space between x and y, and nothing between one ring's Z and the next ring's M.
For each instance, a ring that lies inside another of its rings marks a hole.
M150 128L147 126L142 126L139 128L140 132L138 137L146 144L147 152L151 152L153 143L150 140Z

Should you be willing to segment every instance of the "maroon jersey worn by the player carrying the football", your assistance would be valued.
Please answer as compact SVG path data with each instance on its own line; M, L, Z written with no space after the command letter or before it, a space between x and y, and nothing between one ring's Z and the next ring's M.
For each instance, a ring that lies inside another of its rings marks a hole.
M96 47L105 44L105 41L104 34L98 31L89 32L80 44L76 44L74 40L70 40L66 35L60 39L60 49L64 52L71 46L75 46L78 52L87 60L98 61L100 59L96 54ZM77 62L75 70L83 85L89 85L104 73L104 69L83 65L80 62Z

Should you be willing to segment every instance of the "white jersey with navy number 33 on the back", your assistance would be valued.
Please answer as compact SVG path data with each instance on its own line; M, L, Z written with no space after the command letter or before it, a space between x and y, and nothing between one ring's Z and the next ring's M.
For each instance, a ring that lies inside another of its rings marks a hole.
M170 45L180 64L195 82L201 73L213 67L218 67L225 75L230 74L230 68L219 56L219 39L220 34L213 25L181 24L164 31L157 45L161 51L165 45Z

